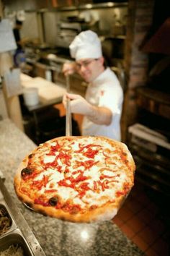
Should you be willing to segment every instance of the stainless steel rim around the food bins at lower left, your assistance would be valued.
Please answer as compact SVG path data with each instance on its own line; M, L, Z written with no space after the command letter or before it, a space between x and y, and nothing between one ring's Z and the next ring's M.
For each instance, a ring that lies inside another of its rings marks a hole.
M10 220L10 227L0 235L0 254L10 246L18 245L22 248L25 256L45 256L39 242L32 233L30 226L25 221L22 213L14 204L4 182L0 177L0 209L6 211Z

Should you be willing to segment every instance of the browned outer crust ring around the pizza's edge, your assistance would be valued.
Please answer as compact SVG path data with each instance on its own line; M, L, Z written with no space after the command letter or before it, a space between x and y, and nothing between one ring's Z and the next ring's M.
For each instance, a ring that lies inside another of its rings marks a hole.
M71 137L71 138L74 138L76 140L77 137ZM117 147L124 150L124 152L126 153L126 159L128 160L128 168L130 168L130 172L128 175L130 176L131 182L129 184L129 187L131 189L133 187L133 181L134 181L135 163L133 161L132 155L130 154L130 151L128 150L128 147L122 142L110 140L106 137L98 137L98 138L100 138L101 141L107 139L109 140L109 142L111 142L111 144L113 143L114 145L116 143ZM58 137L48 142L54 142L56 140L66 140L66 137ZM32 153L36 153L36 150L37 148L35 148L35 150L33 150ZM117 211L120 209L122 203L125 201L125 198L128 196L128 193L127 195L120 195L119 197L117 197L117 200L115 202L107 202L106 204L102 205L102 207L89 209L85 213L75 213L75 214L63 211L61 209L56 209L53 206L43 206L43 205L35 204L30 197L28 197L27 195L24 195L24 193L19 190L20 183L22 180L21 171L23 168L27 167L28 159L29 159L29 155L27 155L24 158L22 163L20 163L19 168L17 169L17 172L14 176L14 189L17 193L17 196L19 197L19 200L21 200L30 208L35 210L35 212L41 213L44 216L50 216L53 218L59 218L65 221L72 221L72 222L90 223L94 221L107 221L115 217L115 215L117 214Z

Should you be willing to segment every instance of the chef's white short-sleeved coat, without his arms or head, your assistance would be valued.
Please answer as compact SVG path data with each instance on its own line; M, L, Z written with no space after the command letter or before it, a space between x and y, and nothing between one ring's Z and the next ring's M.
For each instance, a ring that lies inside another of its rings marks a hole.
M94 124L84 116L82 135L106 136L120 141L123 92L117 76L109 67L90 83L85 98L94 106L109 108L112 111L112 122L109 125Z

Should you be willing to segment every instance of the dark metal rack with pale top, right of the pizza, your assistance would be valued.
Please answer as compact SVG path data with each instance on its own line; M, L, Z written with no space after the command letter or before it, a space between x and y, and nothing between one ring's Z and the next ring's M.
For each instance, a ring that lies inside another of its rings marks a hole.
M128 129L128 145L136 164L136 179L170 197L170 144L164 135L141 124Z

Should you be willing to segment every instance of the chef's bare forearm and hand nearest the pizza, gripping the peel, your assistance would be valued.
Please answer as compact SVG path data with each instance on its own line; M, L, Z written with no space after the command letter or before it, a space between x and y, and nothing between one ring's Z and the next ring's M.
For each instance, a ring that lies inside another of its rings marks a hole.
M66 106L66 99L71 100L71 113L87 116L95 124L109 125L112 121L112 111L109 108L93 106L81 95L66 93L63 96L63 105Z

